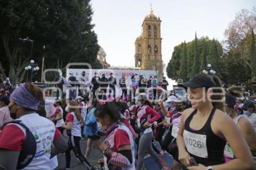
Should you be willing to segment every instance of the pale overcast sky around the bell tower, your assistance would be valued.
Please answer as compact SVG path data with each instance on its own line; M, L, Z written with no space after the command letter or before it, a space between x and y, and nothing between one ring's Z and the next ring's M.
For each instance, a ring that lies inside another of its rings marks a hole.
M92 0L94 31L111 66L134 66L134 42L150 12L150 4L162 20L162 60L167 65L173 48L183 41L192 41L195 32L198 38L223 40L236 13L251 10L256 0Z

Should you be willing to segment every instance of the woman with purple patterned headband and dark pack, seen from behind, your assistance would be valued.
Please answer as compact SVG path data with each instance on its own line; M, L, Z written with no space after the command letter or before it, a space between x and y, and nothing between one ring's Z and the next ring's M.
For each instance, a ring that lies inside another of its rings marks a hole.
M11 94L9 110L18 119L0 133L0 169L50 170L51 158L67 149L54 123L36 113L40 101L43 92L32 83L23 83Z

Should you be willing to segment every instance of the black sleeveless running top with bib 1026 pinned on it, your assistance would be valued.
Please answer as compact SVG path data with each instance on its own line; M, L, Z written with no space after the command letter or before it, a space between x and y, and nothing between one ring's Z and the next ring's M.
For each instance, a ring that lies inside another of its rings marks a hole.
M186 149L189 155L195 158L197 163L201 163L204 166L225 163L223 152L226 140L215 135L211 129L211 120L215 111L216 108L213 108L206 123L199 130L192 129L189 126L197 109L195 109L185 121L183 138Z

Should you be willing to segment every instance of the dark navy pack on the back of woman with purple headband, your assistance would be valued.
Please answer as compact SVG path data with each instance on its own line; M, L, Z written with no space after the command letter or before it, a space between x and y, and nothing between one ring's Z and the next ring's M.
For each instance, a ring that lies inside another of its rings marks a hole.
M30 132L28 127L23 123L21 123L21 120L14 120L14 121L5 123L4 126L10 123L18 124L26 129L26 138L22 144L18 163L17 163L17 169L23 169L33 160L36 154L36 139L32 134L32 132Z

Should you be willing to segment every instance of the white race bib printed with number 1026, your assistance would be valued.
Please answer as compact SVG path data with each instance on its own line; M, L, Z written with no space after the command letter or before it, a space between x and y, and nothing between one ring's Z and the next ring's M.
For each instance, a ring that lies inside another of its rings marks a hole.
M206 135L195 134L184 130L183 137L189 153L201 158L208 158Z

